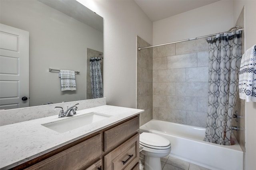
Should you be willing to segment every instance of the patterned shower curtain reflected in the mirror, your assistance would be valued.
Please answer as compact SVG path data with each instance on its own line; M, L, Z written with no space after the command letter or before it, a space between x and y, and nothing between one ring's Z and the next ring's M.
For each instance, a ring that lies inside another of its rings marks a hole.
M100 57L90 58L90 75L91 75L93 99L103 97L103 82L102 82L100 63L101 63Z

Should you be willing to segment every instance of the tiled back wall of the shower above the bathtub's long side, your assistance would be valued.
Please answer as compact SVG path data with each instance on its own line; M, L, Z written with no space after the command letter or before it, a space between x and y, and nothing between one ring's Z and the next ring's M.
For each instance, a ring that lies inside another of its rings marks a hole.
M206 127L208 43L153 48L153 119Z

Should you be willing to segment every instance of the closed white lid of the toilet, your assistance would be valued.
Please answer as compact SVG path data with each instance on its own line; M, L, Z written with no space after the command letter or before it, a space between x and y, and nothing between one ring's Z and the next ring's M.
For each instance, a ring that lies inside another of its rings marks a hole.
M153 147L168 147L170 141L164 137L153 133L143 132L140 134L140 143Z

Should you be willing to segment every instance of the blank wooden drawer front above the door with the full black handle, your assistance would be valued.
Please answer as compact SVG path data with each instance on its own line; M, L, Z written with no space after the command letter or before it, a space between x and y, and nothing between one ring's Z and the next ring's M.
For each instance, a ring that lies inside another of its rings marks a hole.
M140 129L139 117L122 123L104 132L104 151L112 149L124 140L136 134Z

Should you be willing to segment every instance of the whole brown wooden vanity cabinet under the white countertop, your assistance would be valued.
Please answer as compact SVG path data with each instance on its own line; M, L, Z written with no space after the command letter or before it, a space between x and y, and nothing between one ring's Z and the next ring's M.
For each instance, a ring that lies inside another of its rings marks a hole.
M139 170L139 115L12 169Z

